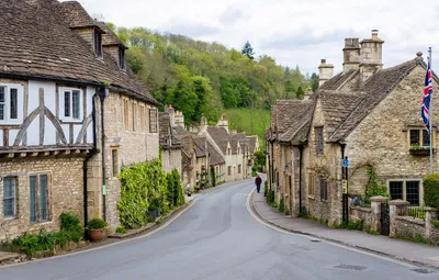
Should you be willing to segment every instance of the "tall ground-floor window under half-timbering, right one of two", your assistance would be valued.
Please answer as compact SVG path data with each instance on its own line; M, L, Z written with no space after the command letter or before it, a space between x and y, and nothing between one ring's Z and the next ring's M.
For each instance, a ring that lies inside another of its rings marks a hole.
M49 221L48 175L30 177L31 223Z

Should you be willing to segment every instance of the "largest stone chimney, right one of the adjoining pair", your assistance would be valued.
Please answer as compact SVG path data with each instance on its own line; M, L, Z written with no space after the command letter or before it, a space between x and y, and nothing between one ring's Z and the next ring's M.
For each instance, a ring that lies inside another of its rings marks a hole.
M383 69L383 44L378 37L378 30L372 30L372 37L361 41L360 74L364 82L378 70Z

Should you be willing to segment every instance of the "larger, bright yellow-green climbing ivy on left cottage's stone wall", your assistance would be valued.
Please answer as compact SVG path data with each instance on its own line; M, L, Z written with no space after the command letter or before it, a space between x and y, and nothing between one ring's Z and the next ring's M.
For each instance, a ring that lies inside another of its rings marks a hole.
M169 212L167 179L160 159L126 167L120 175L121 200L117 210L122 225L138 228L148 222L150 209Z

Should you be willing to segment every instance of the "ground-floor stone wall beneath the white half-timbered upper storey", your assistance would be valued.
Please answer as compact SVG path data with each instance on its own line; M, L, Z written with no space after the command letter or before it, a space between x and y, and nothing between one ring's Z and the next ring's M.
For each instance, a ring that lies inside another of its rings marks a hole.
M16 178L13 219L3 217L3 200L0 200L0 240L12 239L24 232L59 229L59 215L69 212L83 223L83 184L81 157L13 158L0 163L0 176ZM48 175L49 221L31 223L30 176ZM3 181L0 181L3 197Z

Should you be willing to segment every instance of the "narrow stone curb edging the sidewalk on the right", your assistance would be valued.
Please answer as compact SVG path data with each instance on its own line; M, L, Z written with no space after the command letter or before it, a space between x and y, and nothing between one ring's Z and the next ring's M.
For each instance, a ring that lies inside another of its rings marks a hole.
M357 248L357 249L360 249L360 250L364 250L364 251L368 251L368 253L372 253L372 254L376 254L376 255L381 255L381 256L385 256L385 257L391 257L391 258L394 258L394 259L398 259L398 260L412 262L412 264L417 265L417 266L424 266L424 267L429 267L429 268L439 269L439 266L435 266L435 265L431 265L431 264L426 264L426 262L421 262L421 261L418 261L418 260L408 259L408 258L401 257L401 256L396 256L396 255L392 255L392 254L389 254L389 253L385 253L385 251L375 250L375 249L370 249L370 248L367 248L367 247L363 247L363 246L358 246L358 245L354 245L354 244L350 244L350 243L346 243L346 242L340 242L340 240L333 239L333 238L328 238L328 237L320 236L320 235L317 235L317 234L311 234L311 233L305 233L305 232L301 232L301 231L297 231L297 229L291 229L291 228L289 228L289 227L279 225L279 224L277 224L277 223L274 223L274 222L272 222L272 221L270 221L270 220L263 217L263 216L258 212L258 210L257 210L256 206L255 206L255 201L254 201L255 190L252 190L251 193L250 193L249 195L251 195L251 197L250 197L250 201L251 201L251 205L250 205L250 206L251 206L251 210L254 211L254 213L255 213L259 219L261 219L263 222L266 222L266 223L268 223L268 224L270 224L270 225L273 225L273 226L275 226L275 227L278 227L278 228L281 228L281 229L283 229L283 231L286 231L286 232L290 232L290 233L293 233L293 234L297 234L297 235L304 235L304 236L315 237L315 238L323 239L323 240L326 240L326 242L329 242L329 243L340 244L340 245L344 245L344 246Z

